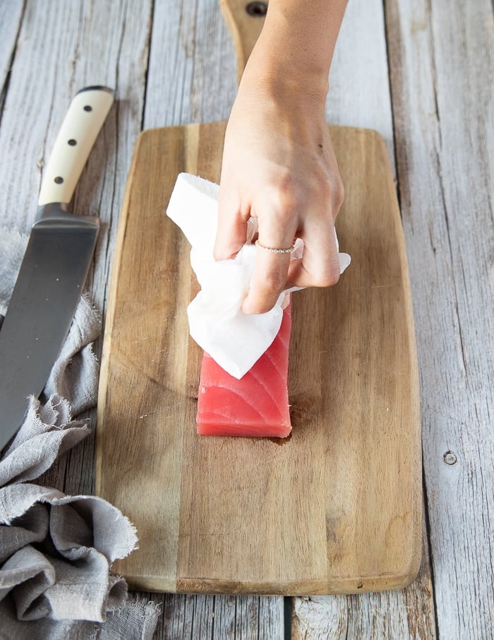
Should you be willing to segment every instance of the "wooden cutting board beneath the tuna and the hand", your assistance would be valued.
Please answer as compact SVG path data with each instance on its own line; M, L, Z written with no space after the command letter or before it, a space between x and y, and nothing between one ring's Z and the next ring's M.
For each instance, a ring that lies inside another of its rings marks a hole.
M165 215L181 171L218 181L226 123L144 131L128 176L104 335L97 494L135 524L113 570L181 593L360 593L421 560L421 423L402 225L385 145L330 127L352 263L293 296L287 440L200 437L189 246Z

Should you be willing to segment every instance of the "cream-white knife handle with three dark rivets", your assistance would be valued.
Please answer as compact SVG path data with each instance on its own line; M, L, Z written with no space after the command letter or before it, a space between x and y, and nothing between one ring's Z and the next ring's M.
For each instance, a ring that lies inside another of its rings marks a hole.
M114 92L107 87L88 87L73 97L44 169L38 206L71 201L113 101Z

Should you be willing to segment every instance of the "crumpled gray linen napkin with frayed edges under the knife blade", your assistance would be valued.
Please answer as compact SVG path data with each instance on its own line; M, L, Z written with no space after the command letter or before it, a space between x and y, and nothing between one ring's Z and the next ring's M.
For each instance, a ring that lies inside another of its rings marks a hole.
M0 227L0 314L26 242ZM101 498L30 482L90 433L73 415L96 403L100 331L83 296L43 395L26 398L25 421L0 460L0 639L137 640L155 631L159 609L128 598L126 582L109 571L137 544L128 518Z

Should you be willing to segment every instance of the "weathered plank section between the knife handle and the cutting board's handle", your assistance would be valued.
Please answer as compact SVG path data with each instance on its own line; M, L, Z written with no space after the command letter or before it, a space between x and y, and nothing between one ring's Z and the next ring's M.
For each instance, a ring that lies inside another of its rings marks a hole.
M217 0L158 0L152 29L144 129L226 119L235 56Z

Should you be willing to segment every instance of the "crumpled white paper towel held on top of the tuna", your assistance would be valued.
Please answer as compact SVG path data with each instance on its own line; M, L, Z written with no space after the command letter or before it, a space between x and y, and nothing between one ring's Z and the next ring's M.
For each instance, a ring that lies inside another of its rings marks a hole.
M231 376L240 379L249 371L275 339L282 324L283 300L265 314L244 314L241 305L251 283L255 251L252 239L257 221L248 221L247 243L234 259L215 261L212 256L217 230L219 186L198 176L181 173L171 194L167 215L190 242L191 265L200 292L187 309L192 338ZM338 239L335 232L338 248ZM300 258L303 242L297 239L292 259ZM349 266L350 256L339 254L340 273Z

